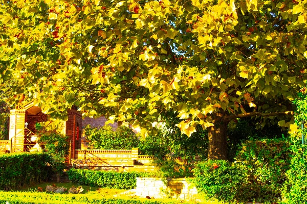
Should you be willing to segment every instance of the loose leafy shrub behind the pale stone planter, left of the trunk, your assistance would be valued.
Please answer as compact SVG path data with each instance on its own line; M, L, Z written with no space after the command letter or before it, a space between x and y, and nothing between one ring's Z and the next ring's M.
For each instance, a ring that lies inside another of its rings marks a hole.
M157 135L140 139L140 154L152 156L163 177L191 176L196 156L207 158L207 133L197 126L191 137L181 134L175 126L178 118L172 117L176 116L169 113L166 121L169 123L162 126ZM178 159L182 160L180 164Z

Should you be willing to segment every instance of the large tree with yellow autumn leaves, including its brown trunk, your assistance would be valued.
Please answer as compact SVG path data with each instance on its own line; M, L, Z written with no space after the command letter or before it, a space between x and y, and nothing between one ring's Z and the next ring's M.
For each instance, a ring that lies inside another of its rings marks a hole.
M226 159L239 117L279 116L306 79L307 1L0 1L1 89L43 112L152 122L176 112L190 136L208 130Z

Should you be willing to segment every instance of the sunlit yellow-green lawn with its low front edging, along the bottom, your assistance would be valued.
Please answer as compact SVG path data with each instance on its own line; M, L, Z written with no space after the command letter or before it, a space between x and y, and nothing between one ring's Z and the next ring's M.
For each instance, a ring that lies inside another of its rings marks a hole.
M4 192L0 191L0 203L184 203L183 200L176 199L148 199L139 198L133 190L123 189L105 189L99 187L90 187L82 185L84 189L80 194L72 193L52 193L46 192L46 186L54 185L70 189L72 186L77 187L72 183L41 183L33 186L24 187L16 191ZM7 202L8 201L8 202ZM151 202L153 201L153 202ZM212 201L195 201L190 200L186 203L218 203Z

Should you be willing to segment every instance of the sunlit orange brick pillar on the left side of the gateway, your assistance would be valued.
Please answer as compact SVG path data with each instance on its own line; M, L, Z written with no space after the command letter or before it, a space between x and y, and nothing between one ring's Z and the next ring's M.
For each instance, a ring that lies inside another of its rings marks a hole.
M12 142L10 151L24 151L26 111L13 109L10 111L9 140Z

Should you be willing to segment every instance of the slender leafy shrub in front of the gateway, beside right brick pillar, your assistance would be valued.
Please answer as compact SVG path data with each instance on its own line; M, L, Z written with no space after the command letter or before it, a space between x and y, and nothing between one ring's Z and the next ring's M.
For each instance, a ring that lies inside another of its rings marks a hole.
M44 151L51 158L50 163L57 175L57 181L59 182L59 176L65 168L64 162L69 155L68 136L55 131L40 131L38 132L37 142L45 146Z

